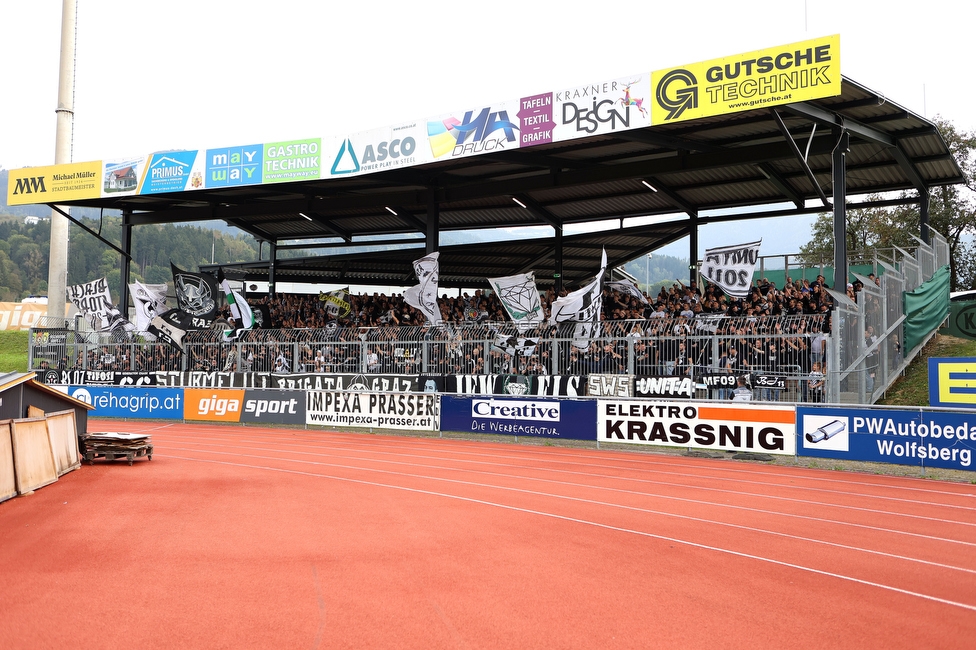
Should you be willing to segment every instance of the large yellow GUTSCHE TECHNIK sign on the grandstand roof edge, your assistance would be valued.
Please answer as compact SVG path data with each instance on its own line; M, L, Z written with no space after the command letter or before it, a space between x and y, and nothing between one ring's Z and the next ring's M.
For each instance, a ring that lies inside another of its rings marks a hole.
M840 94L840 36L651 73L651 124Z

